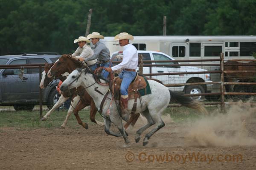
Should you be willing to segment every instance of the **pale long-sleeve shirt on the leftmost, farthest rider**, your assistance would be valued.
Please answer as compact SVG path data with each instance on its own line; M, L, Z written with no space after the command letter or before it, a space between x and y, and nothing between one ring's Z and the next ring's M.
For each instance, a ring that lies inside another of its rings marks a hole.
M75 58L82 57L84 59L86 59L86 58L88 58L92 55L93 55L93 50L87 44L84 44L84 46L82 46L81 48L78 47L76 49L76 51L72 54L72 56L75 57ZM87 64L90 66L90 65L95 64L96 62L97 62L97 60L94 59L94 60L91 60L91 61L87 61Z

